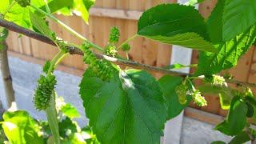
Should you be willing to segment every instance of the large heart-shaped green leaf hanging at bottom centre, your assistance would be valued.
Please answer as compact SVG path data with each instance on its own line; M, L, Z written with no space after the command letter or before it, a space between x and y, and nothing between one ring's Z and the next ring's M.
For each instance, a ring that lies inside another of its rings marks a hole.
M165 99L146 71L114 71L104 82L87 69L80 83L86 117L102 143L159 143L166 122Z

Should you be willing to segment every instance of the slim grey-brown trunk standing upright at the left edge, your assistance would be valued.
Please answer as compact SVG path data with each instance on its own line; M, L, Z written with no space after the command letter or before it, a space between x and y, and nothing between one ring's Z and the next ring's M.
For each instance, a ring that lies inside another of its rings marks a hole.
M16 110L14 88L13 88L12 78L10 76L7 49L8 49L8 46L6 42L2 42L2 52L0 54L0 68L2 72L3 87L6 95L7 107L9 110Z

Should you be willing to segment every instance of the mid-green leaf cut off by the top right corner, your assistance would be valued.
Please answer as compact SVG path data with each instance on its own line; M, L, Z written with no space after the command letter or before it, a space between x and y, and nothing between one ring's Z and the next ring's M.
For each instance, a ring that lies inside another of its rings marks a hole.
M256 1L226 0L223 11L223 38L230 40L256 22Z

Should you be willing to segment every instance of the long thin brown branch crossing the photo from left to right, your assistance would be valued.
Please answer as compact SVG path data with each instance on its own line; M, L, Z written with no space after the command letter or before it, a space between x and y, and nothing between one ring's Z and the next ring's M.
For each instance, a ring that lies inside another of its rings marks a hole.
M42 34L38 34L32 30L27 30L27 29L23 28L22 26L16 25L14 22L8 22L4 19L0 19L0 26L6 27L8 30L14 31L16 33L24 34L30 38L37 39L38 41L48 43L52 46L56 46L55 43L50 38L47 38L47 37L43 36ZM69 50L70 54L83 55L82 50L79 50L76 47L67 46L66 49ZM138 62L126 61L126 60L122 60L119 58L112 58L112 57L109 57L109 56L106 56L103 54L97 54L97 53L95 53L95 54L100 59L106 59L107 61L114 62L119 65L130 66L130 67L137 68L140 70L150 70L150 71L158 72L161 74L168 74L168 75L173 75L173 76L178 76L178 77L183 77L183 78L185 78L186 76L193 75L193 74L182 73L182 72L177 72L177 71L173 71L173 70L166 70L166 69L159 68L156 66L148 66L148 65L144 65L144 64L138 63ZM239 82L234 79L226 79L226 82L234 83L238 86L256 87L256 83Z

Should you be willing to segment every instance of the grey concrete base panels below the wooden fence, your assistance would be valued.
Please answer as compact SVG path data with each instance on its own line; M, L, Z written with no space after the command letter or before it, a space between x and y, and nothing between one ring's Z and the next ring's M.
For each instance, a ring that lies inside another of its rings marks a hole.
M14 57L9 57L9 62L10 72L14 82L15 98L18 104L18 109L29 111L33 118L46 120L46 114L43 111L38 112L38 110L35 110L32 103L34 89L37 86L37 79L39 78L39 74L42 72L42 66ZM66 102L71 103L78 109L78 112L82 115L82 117L76 118L76 120L80 126L86 126L88 119L85 117L84 108L82 106L82 99L78 94L78 85L82 78L72 74L66 74L58 70L56 70L54 74L58 80L58 85L56 86L58 96L62 96ZM2 88L1 73L0 98L3 107L6 109L6 100ZM175 123L174 120L173 125L176 124L177 123ZM230 137L226 137L216 130L211 130L214 126L205 122L199 122L192 118L184 117L182 123L178 122L178 125L180 124L182 126L182 132L179 132L181 126L172 126L172 128L169 130L171 133L169 133L169 135L165 135L165 139L168 139L170 135L172 135L171 138L181 137L181 141L174 141L174 139L172 139L165 142L165 144L205 144L216 140L229 142L231 139ZM175 129L175 127L178 127L178 129Z

